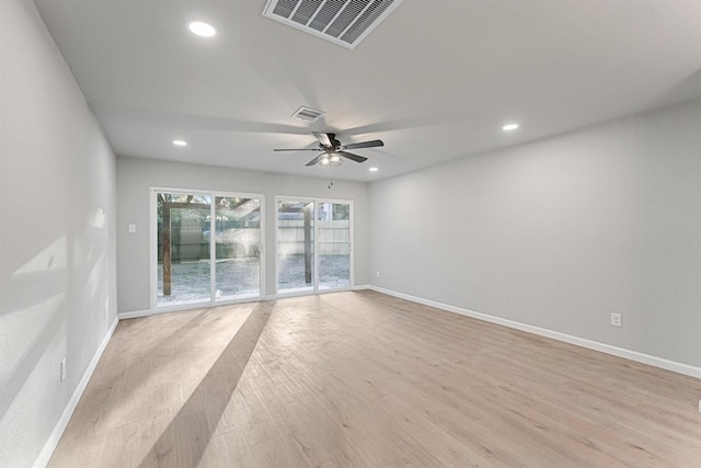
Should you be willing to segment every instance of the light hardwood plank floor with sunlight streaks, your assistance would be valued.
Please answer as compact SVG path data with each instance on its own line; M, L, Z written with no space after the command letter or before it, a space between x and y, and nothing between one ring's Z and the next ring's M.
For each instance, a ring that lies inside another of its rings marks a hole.
M51 467L701 467L701 380L374 292L122 321Z

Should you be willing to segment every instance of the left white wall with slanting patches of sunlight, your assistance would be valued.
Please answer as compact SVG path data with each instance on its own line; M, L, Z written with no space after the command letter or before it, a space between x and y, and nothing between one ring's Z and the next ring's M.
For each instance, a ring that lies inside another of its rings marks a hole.
M34 4L0 18L0 466L26 467L116 318L116 169Z

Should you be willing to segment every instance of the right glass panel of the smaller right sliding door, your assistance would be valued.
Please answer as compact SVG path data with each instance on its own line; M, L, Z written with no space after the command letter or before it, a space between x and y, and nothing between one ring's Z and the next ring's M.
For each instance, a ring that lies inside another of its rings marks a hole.
M320 203L317 212L319 289L350 286L350 205Z

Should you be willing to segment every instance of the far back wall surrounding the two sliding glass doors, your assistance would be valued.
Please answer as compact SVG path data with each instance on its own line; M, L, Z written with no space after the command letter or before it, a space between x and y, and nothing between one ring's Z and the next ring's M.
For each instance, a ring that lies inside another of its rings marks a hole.
M369 283L367 184L335 181L333 187L329 190L326 179L119 157L117 158L119 312L141 312L150 309L149 189L151 186L264 195L267 246L264 295L268 296L275 294L275 196L350 199L355 208L355 284ZM127 232L129 224L137 226L136 233Z

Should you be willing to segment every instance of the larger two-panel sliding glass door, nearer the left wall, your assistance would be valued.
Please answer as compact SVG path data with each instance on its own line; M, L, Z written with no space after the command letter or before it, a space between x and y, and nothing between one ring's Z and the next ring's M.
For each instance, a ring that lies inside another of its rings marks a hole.
M260 196L151 191L153 307L261 296Z

